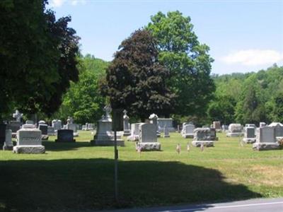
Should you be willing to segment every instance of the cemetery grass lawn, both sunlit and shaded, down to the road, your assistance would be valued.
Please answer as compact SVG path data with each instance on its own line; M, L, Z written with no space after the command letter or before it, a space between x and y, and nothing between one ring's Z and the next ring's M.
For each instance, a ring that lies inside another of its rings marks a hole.
M0 211L80 211L165 206L283 196L283 150L253 151L239 138L217 134L214 148L190 147L178 133L158 139L162 151L119 147L120 203L113 197L113 147L44 141L46 153L0 151ZM175 148L180 143L181 153Z

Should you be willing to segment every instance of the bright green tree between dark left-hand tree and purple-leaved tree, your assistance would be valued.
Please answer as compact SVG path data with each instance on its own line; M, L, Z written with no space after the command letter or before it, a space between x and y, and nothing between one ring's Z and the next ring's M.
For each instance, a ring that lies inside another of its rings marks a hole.
M100 95L98 81L105 77L108 62L87 54L81 57L79 81L71 86L63 96L59 112L54 114L60 119L72 116L76 123L93 123L101 118L105 98Z

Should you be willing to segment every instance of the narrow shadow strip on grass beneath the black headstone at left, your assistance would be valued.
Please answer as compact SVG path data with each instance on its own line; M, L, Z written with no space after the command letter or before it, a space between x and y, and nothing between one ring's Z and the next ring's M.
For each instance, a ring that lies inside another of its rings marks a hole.
M54 141L42 141L46 151L71 151L76 148L91 146L91 141L79 141L72 143L57 143Z

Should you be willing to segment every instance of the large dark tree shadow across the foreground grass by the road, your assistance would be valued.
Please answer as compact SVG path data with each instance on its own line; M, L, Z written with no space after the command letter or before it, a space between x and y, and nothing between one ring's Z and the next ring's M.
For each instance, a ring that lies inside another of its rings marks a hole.
M260 197L221 172L178 162L120 161L120 204L110 159L0 162L0 211L73 211L166 206ZM204 205L203 209L209 208Z

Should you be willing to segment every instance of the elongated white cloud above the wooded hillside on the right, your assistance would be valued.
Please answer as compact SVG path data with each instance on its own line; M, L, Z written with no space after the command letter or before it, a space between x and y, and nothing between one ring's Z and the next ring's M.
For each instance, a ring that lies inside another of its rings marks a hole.
M283 53L270 49L247 49L220 58L226 64L258 66L274 64L283 60Z

